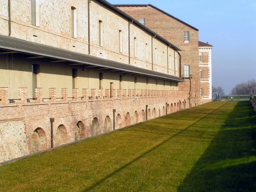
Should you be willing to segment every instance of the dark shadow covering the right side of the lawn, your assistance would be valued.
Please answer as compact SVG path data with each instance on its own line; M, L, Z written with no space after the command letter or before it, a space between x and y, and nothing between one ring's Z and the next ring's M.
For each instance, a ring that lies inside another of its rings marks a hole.
M178 191L256 191L256 112L237 103Z

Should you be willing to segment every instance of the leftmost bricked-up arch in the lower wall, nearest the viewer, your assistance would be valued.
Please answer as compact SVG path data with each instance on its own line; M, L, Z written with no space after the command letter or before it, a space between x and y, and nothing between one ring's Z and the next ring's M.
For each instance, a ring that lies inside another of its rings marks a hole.
M31 153L47 149L46 135L44 129L38 127L31 136Z

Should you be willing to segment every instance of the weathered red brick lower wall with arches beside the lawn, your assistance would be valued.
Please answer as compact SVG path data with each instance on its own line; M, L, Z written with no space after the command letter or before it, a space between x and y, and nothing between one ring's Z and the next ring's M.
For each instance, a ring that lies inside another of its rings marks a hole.
M0 88L0 92L4 89L6 88ZM124 95L114 96L116 92ZM179 111L187 105L186 92L182 91L141 90L136 97L133 97L136 90L131 90L133 96L127 92L128 90L115 90L111 99L106 98L106 95L103 95L106 99L99 99L95 95L94 100L93 97L85 100L73 97L72 100L65 101L1 104L0 162L51 148L50 118L54 118L53 143L56 147L113 131L113 109L116 109L115 129L120 129L143 122L146 118L150 120ZM54 94L54 89L50 88L49 97L52 93ZM77 93L77 89L74 89L74 93ZM26 92L20 97L26 97Z

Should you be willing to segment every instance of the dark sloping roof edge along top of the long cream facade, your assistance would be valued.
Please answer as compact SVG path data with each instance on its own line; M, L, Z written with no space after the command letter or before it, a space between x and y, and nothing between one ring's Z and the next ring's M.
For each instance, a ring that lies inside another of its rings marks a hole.
M168 42L168 40L166 40L165 38L163 38L162 36L158 35L156 32L152 31L151 29L147 28L146 26L144 26L143 24L141 24L140 22L138 22L138 20L134 19L133 17L131 17L130 15L128 15L127 13L123 12L122 10L116 8L113 4L108 3L108 1L106 0L92 0L92 1L97 1L101 4L103 4L104 6L108 7L110 10L112 10L113 12L118 13L119 15L122 15L122 17L125 17L125 19L128 19L129 21L131 21L133 24L135 24L136 26L138 26L139 28L143 29L144 31L147 31L147 33L149 33L150 35L154 36L154 38L157 38L159 41L163 42L164 44L166 44L168 47L172 47L173 49L175 49L176 51L181 51L179 49L179 47L173 45L171 42Z

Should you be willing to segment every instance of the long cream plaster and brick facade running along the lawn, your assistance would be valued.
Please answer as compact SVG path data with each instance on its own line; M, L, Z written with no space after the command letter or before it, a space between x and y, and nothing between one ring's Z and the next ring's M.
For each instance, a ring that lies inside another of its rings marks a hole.
M189 107L180 48L107 1L0 7L0 162Z

